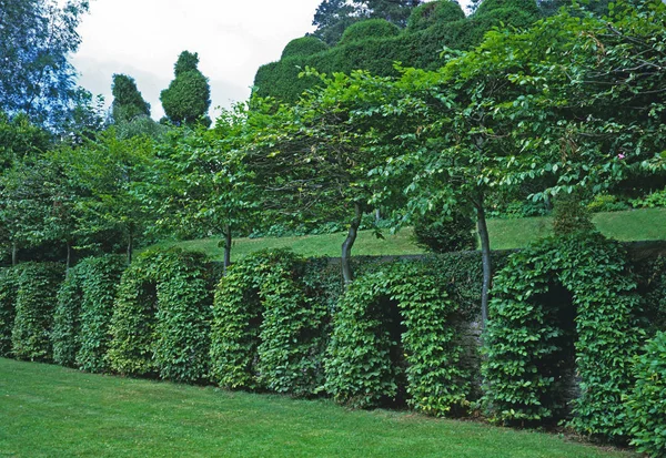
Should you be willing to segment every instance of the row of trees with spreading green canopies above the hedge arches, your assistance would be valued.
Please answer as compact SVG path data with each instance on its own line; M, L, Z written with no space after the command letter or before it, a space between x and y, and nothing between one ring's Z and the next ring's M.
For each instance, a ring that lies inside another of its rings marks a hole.
M496 30L472 51L445 51L436 71L307 69L322 84L297 102L254 98L212 130L185 125L153 139L111 129L14 157L0 186L3 237L14 252L123 240L131 257L139 235L223 235L228 265L234 236L333 221L349 226L349 283L361 220L373 208L396 227L432 211L466 212L481 238L485 317L488 201L525 189L543 200L649 187L663 175L664 42L662 1L622 1L609 19L574 9L527 31ZM192 61L176 64L176 80ZM128 100L145 113L142 99Z

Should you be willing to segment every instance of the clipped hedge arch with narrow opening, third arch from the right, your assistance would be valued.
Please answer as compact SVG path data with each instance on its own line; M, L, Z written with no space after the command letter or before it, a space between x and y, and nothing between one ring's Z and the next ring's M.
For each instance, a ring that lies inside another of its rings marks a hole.
M329 309L306 288L303 259L259 252L234 264L215 292L213 378L228 388L268 388L307 396L322 380ZM311 293L311 294L312 294Z

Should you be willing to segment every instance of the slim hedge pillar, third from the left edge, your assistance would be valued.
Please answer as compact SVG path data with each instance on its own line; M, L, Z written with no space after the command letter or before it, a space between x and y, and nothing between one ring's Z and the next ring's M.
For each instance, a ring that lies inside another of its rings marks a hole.
M53 312L53 362L61 366L73 367L79 352L79 332L81 329L81 302L83 289L78 268L70 268L64 282L58 289L58 302Z

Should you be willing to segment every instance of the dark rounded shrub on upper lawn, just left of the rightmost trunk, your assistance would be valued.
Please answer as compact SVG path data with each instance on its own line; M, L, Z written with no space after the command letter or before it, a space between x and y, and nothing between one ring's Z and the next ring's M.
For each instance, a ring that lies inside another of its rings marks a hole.
M474 220L460 210L448 215L426 213L414 220L416 244L428 252L460 252L476 247Z

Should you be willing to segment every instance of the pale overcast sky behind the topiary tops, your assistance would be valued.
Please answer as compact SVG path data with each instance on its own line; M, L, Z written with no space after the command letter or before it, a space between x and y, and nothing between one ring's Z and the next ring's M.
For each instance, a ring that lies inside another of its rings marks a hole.
M79 27L82 42L72 63L80 84L112 101L111 78L125 73L164 112L160 91L173 79L183 50L199 53L211 84L211 115L250 95L256 69L280 59L294 38L311 32L321 0L92 0Z

